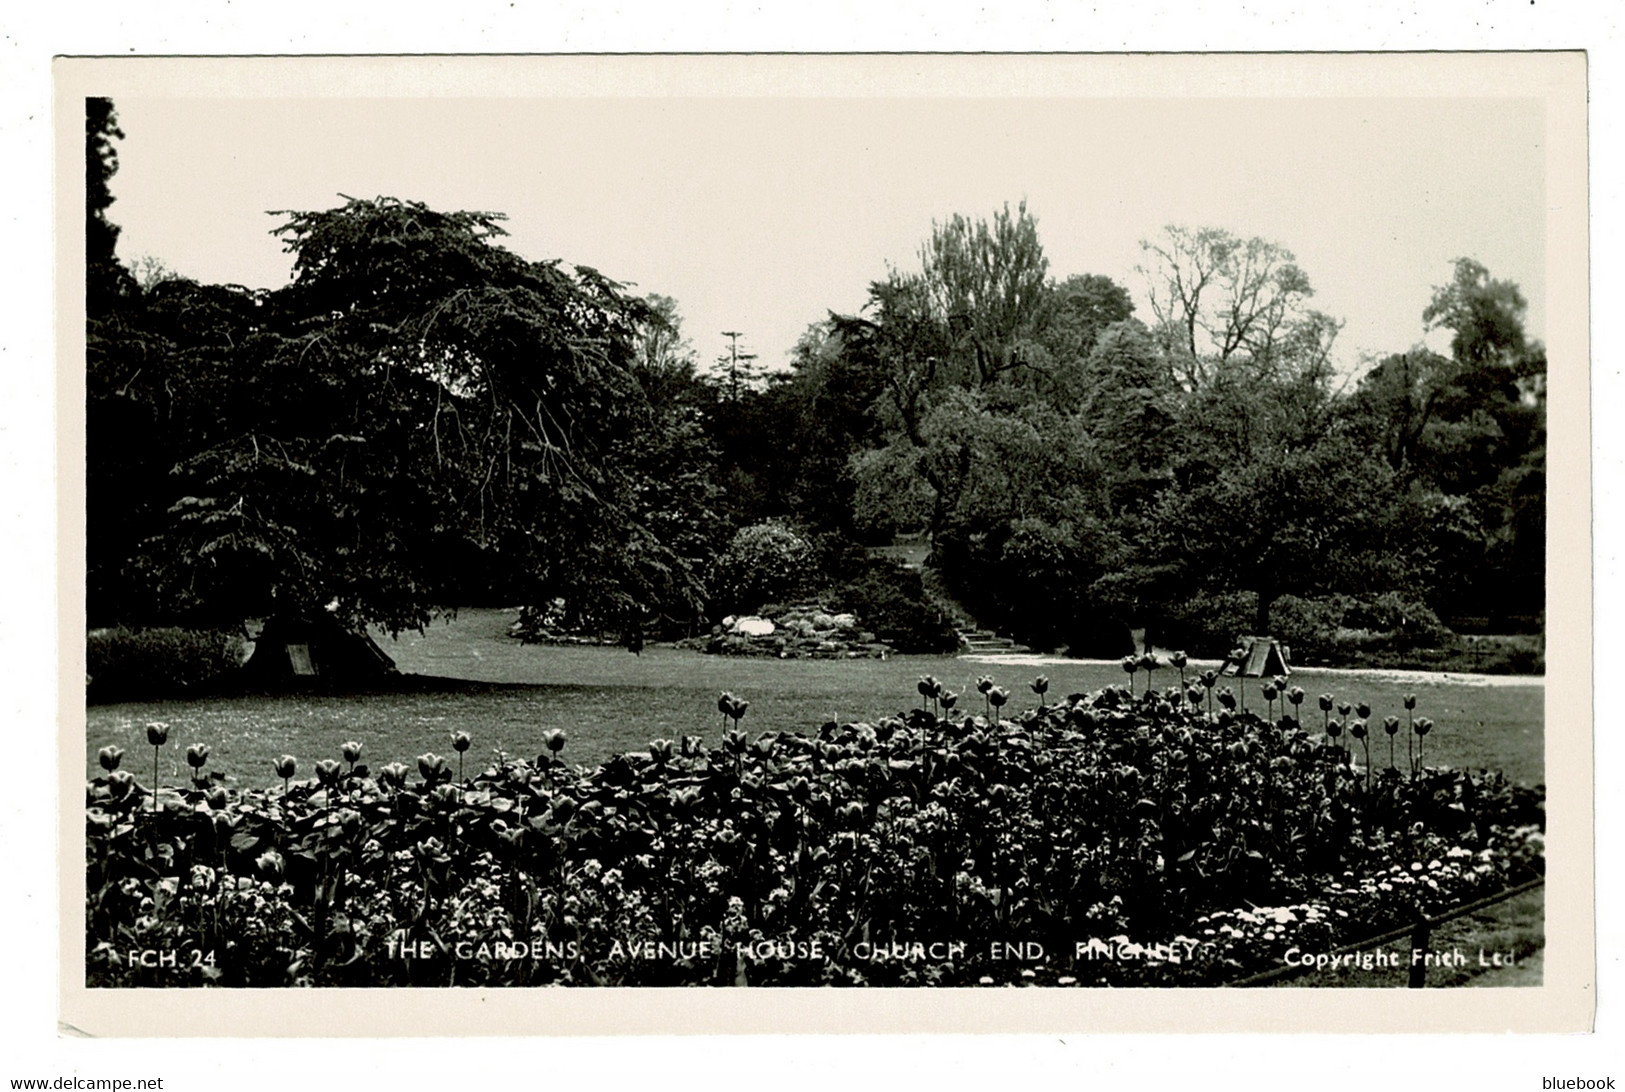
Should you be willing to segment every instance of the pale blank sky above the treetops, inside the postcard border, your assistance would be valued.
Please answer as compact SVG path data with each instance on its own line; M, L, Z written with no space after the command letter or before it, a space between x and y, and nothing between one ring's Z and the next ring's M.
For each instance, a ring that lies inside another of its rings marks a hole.
M408 89L410 91L410 89ZM1056 278L1110 276L1149 318L1167 224L1290 249L1337 362L1424 338L1472 257L1545 320L1542 104L1502 98L115 96L122 258L275 288L271 210L340 195L507 214L505 245L678 301L699 359L782 367L829 310L918 268L933 221L1025 200ZM1433 335L1435 346L1446 340Z

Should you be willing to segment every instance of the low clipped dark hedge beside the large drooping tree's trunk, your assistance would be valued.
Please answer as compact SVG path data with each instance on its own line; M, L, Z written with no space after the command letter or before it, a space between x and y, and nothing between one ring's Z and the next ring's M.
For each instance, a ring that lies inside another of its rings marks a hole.
M193 692L236 670L239 634L198 629L94 629L84 642L86 694L120 702Z

